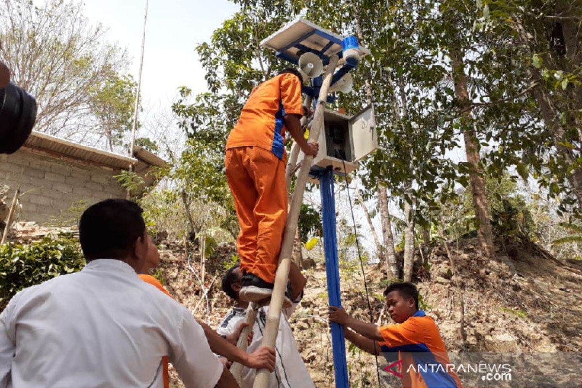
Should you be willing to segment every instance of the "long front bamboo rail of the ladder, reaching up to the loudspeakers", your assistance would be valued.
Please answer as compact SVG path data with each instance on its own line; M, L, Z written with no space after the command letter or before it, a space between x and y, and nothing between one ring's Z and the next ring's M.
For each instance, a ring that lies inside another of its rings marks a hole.
M313 120L313 127L309 134L309 141L317 142L320 136L320 130L324 127L325 102L327 101L329 86L331 85L333 72L337 63L338 56L332 55L329 59L324 80L321 85L320 95L317 100L317 106L315 107L315 118ZM281 254L279 255L279 266L275 276L275 284L273 286L271 304L269 305L269 314L267 316L267 325L265 325L265 333L262 341L262 345L272 348L275 347L277 333L279 331L279 319L283 307L283 297L285 296L287 278L289 277L289 266L291 264L291 254L293 252L293 241L295 240L297 220L299 219L299 210L301 208L301 202L303 202L303 191L305 190L305 184L307 183L307 176L311 169L312 161L313 156L305 155L305 158L301 163L301 168L297 175L297 182L295 184L295 191L289 207L285 233L283 234L283 244L281 245ZM271 372L269 372L268 369L260 369L257 371L253 387L267 388L270 375Z

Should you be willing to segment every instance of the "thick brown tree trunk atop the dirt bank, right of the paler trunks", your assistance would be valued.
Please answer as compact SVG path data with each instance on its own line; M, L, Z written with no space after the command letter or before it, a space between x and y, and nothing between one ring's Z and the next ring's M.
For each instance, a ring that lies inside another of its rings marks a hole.
M450 60L453 68L453 80L455 81L455 93L461 107L460 115L463 127L465 154L467 156L467 162L471 164L469 179L471 182L471 194L473 195L473 207L478 223L477 234L479 244L482 254L491 259L495 257L495 245L493 243L493 231L491 228L491 219L489 218L487 195L485 194L485 180L482 177L479 140L472 130L473 117L471 116L471 109L469 107L467 77L465 75L462 55L453 49L450 52Z

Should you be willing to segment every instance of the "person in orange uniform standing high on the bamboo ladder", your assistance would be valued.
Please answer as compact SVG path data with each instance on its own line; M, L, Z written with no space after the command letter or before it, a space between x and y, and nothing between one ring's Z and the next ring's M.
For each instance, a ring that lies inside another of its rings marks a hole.
M301 74L282 70L255 87L226 141L226 179L235 200L240 233L237 251L243 271L243 301L271 296L287 220L285 130L306 155L318 144L307 143L300 118Z

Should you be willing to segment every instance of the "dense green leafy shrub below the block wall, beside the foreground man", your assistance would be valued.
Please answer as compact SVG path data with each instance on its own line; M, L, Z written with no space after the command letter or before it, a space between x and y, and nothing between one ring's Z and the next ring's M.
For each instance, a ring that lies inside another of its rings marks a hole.
M72 239L45 237L35 243L0 245L0 309L18 291L85 265L79 245Z

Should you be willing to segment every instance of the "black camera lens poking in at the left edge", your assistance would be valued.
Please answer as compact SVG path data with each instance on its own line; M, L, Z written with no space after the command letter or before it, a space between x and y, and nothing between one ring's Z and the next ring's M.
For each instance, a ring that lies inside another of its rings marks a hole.
M12 154L22 147L36 116L36 99L23 88L10 82L0 89L0 154Z

